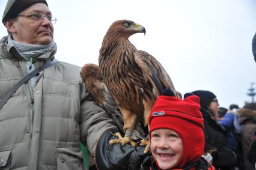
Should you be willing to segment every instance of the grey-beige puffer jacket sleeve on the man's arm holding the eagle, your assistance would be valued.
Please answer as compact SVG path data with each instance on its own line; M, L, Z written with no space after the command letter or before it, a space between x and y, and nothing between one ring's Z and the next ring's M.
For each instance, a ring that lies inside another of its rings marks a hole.
M100 137L106 130L115 129L117 126L108 112L94 102L93 98L86 91L84 83L82 83L81 88L81 140L94 157L96 145Z

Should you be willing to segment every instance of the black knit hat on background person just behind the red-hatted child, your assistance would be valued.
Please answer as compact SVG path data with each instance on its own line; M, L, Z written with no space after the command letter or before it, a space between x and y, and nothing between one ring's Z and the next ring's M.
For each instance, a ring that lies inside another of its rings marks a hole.
M210 105L210 103L216 99L215 94L213 94L210 91L197 90L197 91L193 91L192 93L195 94L196 96L200 97L201 108L207 109L208 106Z

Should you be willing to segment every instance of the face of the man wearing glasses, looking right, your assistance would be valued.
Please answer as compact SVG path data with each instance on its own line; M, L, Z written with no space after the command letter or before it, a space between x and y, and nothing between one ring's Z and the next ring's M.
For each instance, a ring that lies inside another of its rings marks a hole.
M19 15L35 12L44 15L51 14L46 4L37 3L26 8ZM8 31L12 33L13 40L20 43L44 45L53 40L53 26L47 17L39 20L32 20L29 17L17 17L7 22L12 22L11 29L8 29Z

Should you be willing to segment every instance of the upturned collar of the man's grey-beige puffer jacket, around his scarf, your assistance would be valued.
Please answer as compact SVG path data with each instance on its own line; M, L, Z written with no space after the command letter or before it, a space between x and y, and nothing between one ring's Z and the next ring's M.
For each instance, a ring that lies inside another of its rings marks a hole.
M13 45L8 46L8 36L2 37L0 40L0 58L6 58L6 59L17 59L17 60L25 60L22 56L20 56L20 53L14 47ZM57 50L57 46L55 44L55 47L53 50L44 53L43 55L39 56L37 60L46 60L49 58L53 58Z

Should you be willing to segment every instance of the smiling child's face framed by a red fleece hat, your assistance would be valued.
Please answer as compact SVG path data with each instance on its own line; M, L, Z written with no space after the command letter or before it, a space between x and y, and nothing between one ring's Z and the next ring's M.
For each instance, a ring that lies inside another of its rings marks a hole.
M180 162L182 141L178 133L170 129L151 132L151 151L161 169L171 169Z

